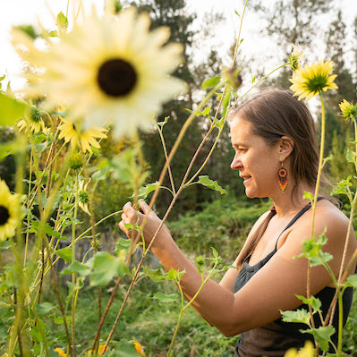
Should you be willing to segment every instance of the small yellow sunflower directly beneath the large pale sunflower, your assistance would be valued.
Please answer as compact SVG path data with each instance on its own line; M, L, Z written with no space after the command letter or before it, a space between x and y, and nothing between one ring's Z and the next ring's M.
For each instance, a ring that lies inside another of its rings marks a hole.
M73 123L71 120L61 118L62 124L58 127L60 134L59 139L64 139L65 142L71 142L73 147L79 147L83 152L92 149L90 146L99 149L100 145L95 138L106 138L106 129L92 127L87 130L81 130L81 123Z

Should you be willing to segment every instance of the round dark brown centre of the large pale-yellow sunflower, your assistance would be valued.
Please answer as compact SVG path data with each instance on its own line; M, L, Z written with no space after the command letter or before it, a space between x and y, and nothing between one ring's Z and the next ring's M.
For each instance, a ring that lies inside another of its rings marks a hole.
M98 84L108 96L122 97L129 94L137 81L137 73L122 59L111 59L102 64L98 71Z

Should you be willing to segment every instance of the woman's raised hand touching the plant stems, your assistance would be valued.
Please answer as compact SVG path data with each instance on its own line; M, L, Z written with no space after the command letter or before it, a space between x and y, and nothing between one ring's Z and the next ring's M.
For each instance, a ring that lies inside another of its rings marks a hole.
M136 210L132 207L131 202L125 203L123 206L123 214L122 220L119 222L119 228L132 240L138 239L138 231L135 229L130 229L125 227L125 224L130 224L133 227L141 226L143 223L143 227L140 229L141 234L144 237L145 245L148 246L152 241L155 234L157 234L155 238L156 246L159 246L165 239L171 237L170 231L166 227L166 225L162 224L162 221L157 215L149 208L149 205L144 201L140 200L140 211ZM145 221L145 222L144 222ZM157 233L157 229L159 229ZM139 238L140 239L140 238Z

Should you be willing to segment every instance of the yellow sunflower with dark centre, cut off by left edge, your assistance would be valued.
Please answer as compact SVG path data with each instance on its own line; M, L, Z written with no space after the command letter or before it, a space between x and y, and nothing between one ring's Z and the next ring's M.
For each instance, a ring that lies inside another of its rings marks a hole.
M12 194L3 180L0 180L0 242L15 235L21 219L20 195Z

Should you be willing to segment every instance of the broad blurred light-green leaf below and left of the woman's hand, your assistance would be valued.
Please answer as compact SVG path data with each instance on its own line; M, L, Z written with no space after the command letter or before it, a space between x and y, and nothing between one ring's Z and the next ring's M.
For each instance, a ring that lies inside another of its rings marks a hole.
M90 259L92 273L90 274L90 285L107 285L114 276L123 276L129 274L125 262L107 251L99 251Z

